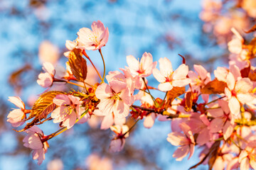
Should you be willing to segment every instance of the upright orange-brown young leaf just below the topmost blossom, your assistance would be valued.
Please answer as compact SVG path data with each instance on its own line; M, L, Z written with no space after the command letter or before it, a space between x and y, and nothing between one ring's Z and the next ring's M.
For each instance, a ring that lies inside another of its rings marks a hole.
M78 81L85 81L87 76L87 64L86 60L82 57L82 51L79 49L74 49L68 55L68 64L71 71Z

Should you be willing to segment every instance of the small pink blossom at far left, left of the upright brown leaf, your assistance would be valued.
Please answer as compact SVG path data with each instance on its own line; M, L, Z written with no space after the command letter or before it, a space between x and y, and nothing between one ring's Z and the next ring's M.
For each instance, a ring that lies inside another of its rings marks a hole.
M44 62L43 70L45 71L45 73L41 73L38 75L37 83L43 88L47 88L53 85L55 69L53 67L53 64L51 64L50 62Z

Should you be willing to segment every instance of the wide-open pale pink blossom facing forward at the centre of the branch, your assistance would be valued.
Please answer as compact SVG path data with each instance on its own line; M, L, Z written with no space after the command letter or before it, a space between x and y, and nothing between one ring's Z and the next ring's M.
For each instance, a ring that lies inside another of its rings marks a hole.
M117 118L127 117L129 106L134 102L134 98L129 94L127 84L118 80L110 81L110 85L100 84L95 95L100 99L100 103L97 105L100 112L97 115L108 115L113 112Z

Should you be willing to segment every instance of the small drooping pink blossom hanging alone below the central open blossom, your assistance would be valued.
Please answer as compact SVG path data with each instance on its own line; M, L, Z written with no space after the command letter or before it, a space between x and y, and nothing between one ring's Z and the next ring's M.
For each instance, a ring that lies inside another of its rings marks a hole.
M120 152L124 148L125 138L129 136L129 128L127 125L114 125L110 129L117 134L110 142L110 152Z

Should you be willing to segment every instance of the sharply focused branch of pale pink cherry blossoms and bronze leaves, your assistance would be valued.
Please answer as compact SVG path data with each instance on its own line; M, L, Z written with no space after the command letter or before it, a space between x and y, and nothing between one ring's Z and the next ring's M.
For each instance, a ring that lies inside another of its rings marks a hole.
M93 22L92 30L81 28L75 41L67 40L66 69L43 63L44 72L37 82L46 91L31 109L26 109L21 98L9 97L18 108L9 113L7 121L14 127L26 123L17 131L28 134L24 146L33 149L38 164L45 158L48 140L76 123L102 116L101 129L114 132L110 152L125 147L125 140L139 120L144 120L145 128L151 128L158 119L171 123L166 139L178 147L173 154L177 161L187 155L189 159L194 149L201 149L201 162L193 167L208 164L210 169L256 169L255 39L245 44L238 31L232 31L229 67L215 69L214 78L201 65L195 64L190 70L185 57L174 69L168 57L154 61L149 52L144 52L140 60L127 56L126 67L105 75L101 48L107 44L109 30L100 21ZM103 75L94 67L87 50L100 52ZM87 81L88 61L101 79L96 84ZM150 76L158 81L157 87L147 80ZM49 91L55 83L80 86L82 91ZM151 91L166 95L155 98ZM127 126L127 118L134 119L134 125ZM60 130L44 135L36 125L51 120L60 125Z

